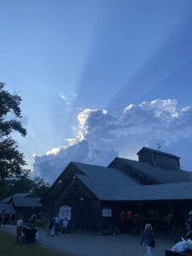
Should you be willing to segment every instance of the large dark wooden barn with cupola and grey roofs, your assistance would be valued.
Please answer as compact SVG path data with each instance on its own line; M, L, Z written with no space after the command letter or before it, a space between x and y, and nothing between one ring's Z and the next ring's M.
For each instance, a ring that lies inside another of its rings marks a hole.
M42 201L49 219L71 207L71 229L109 234L143 229L183 229L192 210L192 175L173 154L142 148L139 160L115 158L108 167L71 162Z

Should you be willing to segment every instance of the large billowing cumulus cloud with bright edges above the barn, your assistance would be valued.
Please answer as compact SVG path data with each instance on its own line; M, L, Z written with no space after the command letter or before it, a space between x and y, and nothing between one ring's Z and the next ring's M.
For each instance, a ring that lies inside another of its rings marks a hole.
M177 109L176 100L154 100L129 105L119 117L107 110L84 109L78 115L79 131L67 139L69 146L35 155L34 170L49 181L55 179L70 161L107 166L115 156L137 159L143 146L183 157L192 171L189 148L192 144L192 108ZM183 153L183 146L187 152Z

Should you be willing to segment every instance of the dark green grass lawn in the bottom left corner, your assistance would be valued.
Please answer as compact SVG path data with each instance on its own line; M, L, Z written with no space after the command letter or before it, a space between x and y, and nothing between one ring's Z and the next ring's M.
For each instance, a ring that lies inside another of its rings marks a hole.
M16 244L15 236L0 230L0 255L1 256L70 256L46 248L38 243L20 245ZM72 255L71 255L72 256Z

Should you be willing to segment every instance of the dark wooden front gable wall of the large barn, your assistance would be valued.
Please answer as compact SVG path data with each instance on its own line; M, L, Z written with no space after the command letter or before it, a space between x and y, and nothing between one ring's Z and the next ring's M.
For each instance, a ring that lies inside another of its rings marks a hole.
M43 218L48 220L56 216L63 206L72 207L72 219L69 221L71 230L95 233L101 231L101 203L78 179L72 177L65 188L61 188L55 201L46 202Z

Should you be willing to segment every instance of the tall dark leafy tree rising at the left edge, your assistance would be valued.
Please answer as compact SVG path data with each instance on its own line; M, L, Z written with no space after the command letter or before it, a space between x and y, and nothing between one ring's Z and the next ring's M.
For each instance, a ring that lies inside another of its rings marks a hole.
M21 125L20 96L11 95L3 90L5 84L0 83L0 185L7 178L16 178L22 175L22 166L25 166L23 154L18 150L18 144L10 136L13 131L26 136L26 129Z

